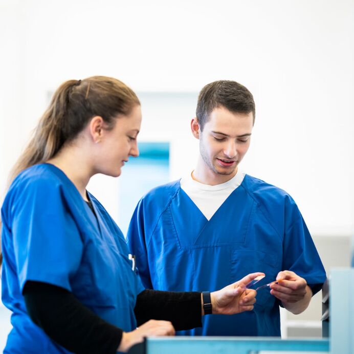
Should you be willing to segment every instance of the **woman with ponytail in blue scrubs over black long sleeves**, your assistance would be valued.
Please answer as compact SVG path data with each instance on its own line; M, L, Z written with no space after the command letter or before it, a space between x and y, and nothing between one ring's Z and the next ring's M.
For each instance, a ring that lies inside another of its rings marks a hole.
M140 124L137 96L116 79L70 80L55 92L2 207L2 298L13 312L5 353L126 351L201 326L204 311L253 309L256 292L245 286L262 273L210 300L144 290L120 229L86 191L91 176L119 176L138 156Z

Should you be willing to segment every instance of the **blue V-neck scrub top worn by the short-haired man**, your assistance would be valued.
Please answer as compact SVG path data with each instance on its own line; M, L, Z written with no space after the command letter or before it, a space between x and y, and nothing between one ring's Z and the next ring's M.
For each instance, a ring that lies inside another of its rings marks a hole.
M326 277L291 196L249 175L209 221L179 181L153 189L139 202L127 238L143 284L156 290L215 291L253 272L266 273L261 285L290 270L316 293ZM179 334L280 336L279 301L262 289L254 311L204 316L203 328Z

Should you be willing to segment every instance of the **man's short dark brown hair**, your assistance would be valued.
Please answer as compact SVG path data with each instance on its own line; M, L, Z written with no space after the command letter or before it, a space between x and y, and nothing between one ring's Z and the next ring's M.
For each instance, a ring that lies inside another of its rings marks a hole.
M225 107L233 113L252 112L254 123L256 108L253 96L245 86L236 81L219 80L203 87L196 105L196 118L201 130L216 107Z

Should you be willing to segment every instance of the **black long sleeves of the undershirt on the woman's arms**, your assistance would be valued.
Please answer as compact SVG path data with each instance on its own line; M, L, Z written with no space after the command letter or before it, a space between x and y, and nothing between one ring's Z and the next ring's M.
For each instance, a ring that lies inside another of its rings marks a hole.
M122 329L102 320L62 287L27 281L23 295L32 321L59 345L75 353L115 353ZM201 294L145 290L134 309L138 326L155 320L171 321L176 330L201 327Z

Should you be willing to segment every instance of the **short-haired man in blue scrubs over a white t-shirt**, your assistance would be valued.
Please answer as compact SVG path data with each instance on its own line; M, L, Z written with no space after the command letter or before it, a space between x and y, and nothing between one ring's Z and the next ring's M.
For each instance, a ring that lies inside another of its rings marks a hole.
M254 311L205 316L181 335L280 336L279 305L304 311L325 271L292 197L242 173L255 104L234 81L206 85L191 130L200 140L196 168L145 195L132 216L128 245L145 287L212 291L261 271ZM257 284L257 285L258 285ZM256 285L253 287L255 289Z

